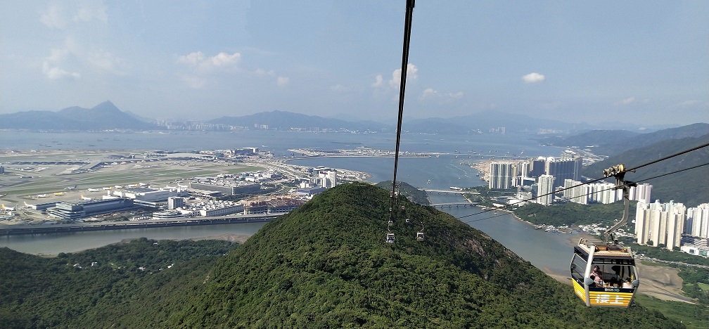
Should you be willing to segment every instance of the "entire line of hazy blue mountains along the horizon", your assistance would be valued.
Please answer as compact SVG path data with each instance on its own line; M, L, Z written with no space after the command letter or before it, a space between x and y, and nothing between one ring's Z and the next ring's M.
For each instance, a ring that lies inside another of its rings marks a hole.
M93 108L73 106L60 111L26 111L9 114L0 114L0 129L28 129L28 130L158 130L167 129L158 126L149 118L138 116L134 113L119 110L111 101L105 101ZM238 126L247 129L274 129L274 130L359 130L359 131L396 131L396 121L381 123L376 121L347 121L340 118L324 118L321 116L308 116L287 111L269 111L255 113L247 116L223 116L206 121L207 124ZM179 123L178 123L179 125ZM704 126L702 126L704 125ZM698 124L697 130L705 129L706 124ZM204 126L201 125L201 128ZM184 128L189 125L184 123ZM601 145L609 146L612 141L604 138L617 138L625 140L640 133L632 131L613 130L609 134L604 130L593 130L597 127L586 123L566 123L550 121L523 116L519 114L503 113L498 111L484 111L471 113L467 116L454 118L420 118L413 119L403 116L401 129L411 133L430 133L445 135L467 135L476 133L528 133L530 135L554 134L563 136L543 141L554 145ZM679 128L677 128L679 129ZM566 138L572 134L584 134L574 138ZM677 133L677 137L680 135ZM696 135L696 134L695 134ZM657 140L663 139L657 135ZM647 135L643 135L637 142L647 143ZM608 145L606 145L608 144ZM647 145L647 144L644 144Z

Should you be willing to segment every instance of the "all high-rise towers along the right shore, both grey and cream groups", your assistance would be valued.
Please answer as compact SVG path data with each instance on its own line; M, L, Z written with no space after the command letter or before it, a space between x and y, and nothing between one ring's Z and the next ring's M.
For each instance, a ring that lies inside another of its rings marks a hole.
M623 200L623 189L614 183L582 184L583 160L564 152L558 160L539 157L524 161L491 162L490 189L518 189L518 199L549 205L557 201L581 204ZM557 191L561 190L557 193ZM687 208L682 203L651 202L652 185L631 186L630 201L637 201L635 238L640 245L682 250L707 257L709 252L709 203Z

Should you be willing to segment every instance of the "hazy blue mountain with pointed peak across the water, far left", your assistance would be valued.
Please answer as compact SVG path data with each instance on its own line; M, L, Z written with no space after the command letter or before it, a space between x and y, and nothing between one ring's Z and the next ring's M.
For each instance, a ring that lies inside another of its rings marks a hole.
M73 106L61 111L27 111L0 115L0 129L29 130L152 130L155 124L140 121L110 101L93 108Z

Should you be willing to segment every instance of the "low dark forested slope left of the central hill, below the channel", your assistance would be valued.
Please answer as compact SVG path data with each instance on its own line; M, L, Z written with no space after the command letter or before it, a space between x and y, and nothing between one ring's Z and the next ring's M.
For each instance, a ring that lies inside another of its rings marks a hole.
M0 248L0 328L138 328L167 318L195 277L236 245L217 240L108 245L54 258ZM146 327L143 327L146 328Z

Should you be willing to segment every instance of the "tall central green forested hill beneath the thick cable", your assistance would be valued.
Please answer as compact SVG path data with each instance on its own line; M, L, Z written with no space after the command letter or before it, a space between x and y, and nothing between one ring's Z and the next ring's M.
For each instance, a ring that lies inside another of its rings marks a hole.
M387 244L389 191L338 186L228 257L172 325L228 328L681 328L644 308L588 309L489 236L406 203Z

